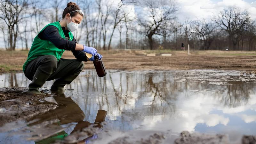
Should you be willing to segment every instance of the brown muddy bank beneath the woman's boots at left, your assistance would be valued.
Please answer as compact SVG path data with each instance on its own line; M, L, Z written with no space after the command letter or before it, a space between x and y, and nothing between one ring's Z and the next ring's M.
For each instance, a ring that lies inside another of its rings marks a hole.
M57 108L44 98L47 95L26 93L27 88L0 88L0 126L16 120L26 119Z

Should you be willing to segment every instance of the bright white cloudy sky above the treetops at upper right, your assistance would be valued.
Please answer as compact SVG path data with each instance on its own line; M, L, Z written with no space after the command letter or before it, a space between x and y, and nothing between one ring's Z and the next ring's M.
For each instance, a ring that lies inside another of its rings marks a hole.
M255 0L176 0L179 11L177 17L180 22L184 19L191 20L211 18L224 7L236 6L242 10L249 11L253 20L256 19L256 1Z

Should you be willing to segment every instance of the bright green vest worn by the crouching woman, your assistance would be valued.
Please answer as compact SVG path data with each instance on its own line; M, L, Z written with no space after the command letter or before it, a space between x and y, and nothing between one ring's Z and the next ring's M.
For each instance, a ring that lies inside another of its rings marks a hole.
M46 28L47 26L52 25L58 28L60 36L62 38L66 38L59 21L50 23L48 25L46 25L44 28ZM43 31L44 28L41 30ZM40 31L40 32L41 32ZM39 32L39 33L40 33ZM69 35L69 40L73 39L73 35L71 32L68 32ZM34 38L34 41L31 45L31 48L28 52L28 59L26 60L26 62L23 65L23 71L25 71L26 66L28 65L28 63L33 60L36 59L39 56L43 56L43 55L53 55L57 58L57 60L60 60L60 57L62 56L63 52L65 50L61 50L59 48L57 48L55 45L52 44L52 42L48 41L48 40L42 40L38 37L38 34L36 35L36 37Z

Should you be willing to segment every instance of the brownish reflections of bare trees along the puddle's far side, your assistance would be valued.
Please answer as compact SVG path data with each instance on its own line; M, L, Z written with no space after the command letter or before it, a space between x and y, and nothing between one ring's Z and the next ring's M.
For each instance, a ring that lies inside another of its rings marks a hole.
M220 100L220 103L224 106L238 107L246 105L250 99L250 94L254 92L255 83L248 83L250 79L245 82L239 81L244 78L243 76L234 76L235 78L232 79L231 77L230 80L228 76L205 75L199 77L199 79L191 78L199 75L200 73L188 72L145 74L108 72L106 77L99 78L95 70L86 70L85 75L77 77L75 82L67 85L66 89L71 89L72 95L76 92L79 95L79 100L83 100L85 105L93 105L96 102L99 108L107 106L108 110L111 110L110 107L116 107L120 113L123 107L129 107L129 100L134 99L136 103L143 103L147 98L146 107L148 107L148 113L151 114L153 112L166 112L164 106L171 106L172 108L169 111L175 111L174 102L181 94L188 99L191 95L197 93L208 94L208 96L213 96ZM211 81L214 82L218 78L224 84L210 84ZM6 87L8 85L21 86L29 84L24 75L13 73L6 74L4 81L4 86ZM89 100L86 94L91 92L102 92L102 94L95 95L97 101ZM134 97L134 93L137 93L138 97Z

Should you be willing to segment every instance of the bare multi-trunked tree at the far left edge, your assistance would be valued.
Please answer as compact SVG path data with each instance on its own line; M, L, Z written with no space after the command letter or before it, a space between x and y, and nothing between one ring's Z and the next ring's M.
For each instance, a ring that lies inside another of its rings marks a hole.
M23 12L27 7L27 0L0 1L0 19L4 20L8 29L8 50L15 50L19 24L25 18Z

